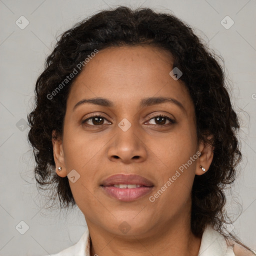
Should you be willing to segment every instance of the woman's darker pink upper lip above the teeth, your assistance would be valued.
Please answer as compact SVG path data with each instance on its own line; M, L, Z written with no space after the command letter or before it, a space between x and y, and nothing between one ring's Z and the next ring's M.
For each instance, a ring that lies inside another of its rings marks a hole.
M142 176L136 174L115 174L103 180L102 186L114 184L136 184L143 186L153 186L153 183Z

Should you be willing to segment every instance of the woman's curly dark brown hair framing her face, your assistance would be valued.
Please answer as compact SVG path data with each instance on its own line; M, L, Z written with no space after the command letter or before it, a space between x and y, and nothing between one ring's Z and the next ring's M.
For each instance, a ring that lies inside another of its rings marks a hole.
M121 45L151 45L168 50L174 59L173 67L182 70L179 79L194 104L198 141L214 147L208 171L194 178L191 230L200 236L205 226L211 224L221 231L226 222L223 190L234 181L235 167L241 159L236 136L239 121L217 60L221 57L211 52L189 25L172 14L156 13L150 8L132 10L119 6L103 10L75 24L57 39L37 78L35 107L27 116L37 185L41 189L50 186L52 196L59 198L60 208L75 205L68 178L59 177L54 171L51 139L53 130L55 136L62 135L67 95L77 76L51 99L49 95L95 49Z

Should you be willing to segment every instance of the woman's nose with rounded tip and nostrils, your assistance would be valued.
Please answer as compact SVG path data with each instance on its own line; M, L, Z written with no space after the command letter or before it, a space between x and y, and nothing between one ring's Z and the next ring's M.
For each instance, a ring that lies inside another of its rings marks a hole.
M115 162L142 162L147 157L147 147L143 135L135 125L126 130L116 127L116 133L108 147L108 159Z

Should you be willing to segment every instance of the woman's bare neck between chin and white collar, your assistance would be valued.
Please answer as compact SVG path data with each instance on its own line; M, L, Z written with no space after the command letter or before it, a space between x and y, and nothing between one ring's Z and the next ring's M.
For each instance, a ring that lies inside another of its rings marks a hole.
M120 236L107 232L86 220L90 238L90 255L175 255L197 256L201 238L192 234L190 222L184 224L177 219L158 223L146 235ZM128 234L128 233L127 233Z

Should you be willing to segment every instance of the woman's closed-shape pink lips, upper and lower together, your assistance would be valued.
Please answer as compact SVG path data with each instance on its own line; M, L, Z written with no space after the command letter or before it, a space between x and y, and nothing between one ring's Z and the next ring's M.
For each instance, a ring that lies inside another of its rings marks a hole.
M119 188L113 184L136 184L136 188ZM103 191L121 201L132 201L151 192L153 183L148 179L135 174L117 174L105 179L100 185Z

